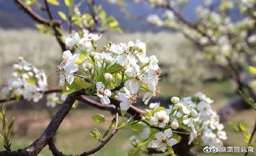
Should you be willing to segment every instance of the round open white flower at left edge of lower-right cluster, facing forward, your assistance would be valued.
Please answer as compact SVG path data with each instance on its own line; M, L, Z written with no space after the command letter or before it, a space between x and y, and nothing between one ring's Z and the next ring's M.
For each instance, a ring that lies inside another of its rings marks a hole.
M159 128L163 128L169 122L169 115L166 114L166 111L161 110L154 114L154 117L150 118L150 123L154 125L158 125Z

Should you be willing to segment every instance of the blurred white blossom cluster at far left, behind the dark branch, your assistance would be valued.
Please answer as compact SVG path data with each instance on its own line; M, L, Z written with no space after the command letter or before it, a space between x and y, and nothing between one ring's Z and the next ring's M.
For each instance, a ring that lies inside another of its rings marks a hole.
M47 89L47 78L43 70L19 57L19 63L13 65L12 77L2 89L6 96L23 97L38 102Z

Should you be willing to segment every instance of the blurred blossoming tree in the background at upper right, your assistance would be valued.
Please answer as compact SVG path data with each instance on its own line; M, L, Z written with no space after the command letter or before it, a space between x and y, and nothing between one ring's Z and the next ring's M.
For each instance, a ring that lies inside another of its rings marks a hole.
M203 0L196 8L196 19L187 20L182 8L188 0L147 1L154 8L165 9L162 16L150 14L147 21L157 27L168 27L182 34L201 50L205 58L223 68L239 90L256 100L251 87L253 76L248 66L256 64L256 2ZM229 13L240 10L241 17L233 19ZM241 101L239 101L241 103Z

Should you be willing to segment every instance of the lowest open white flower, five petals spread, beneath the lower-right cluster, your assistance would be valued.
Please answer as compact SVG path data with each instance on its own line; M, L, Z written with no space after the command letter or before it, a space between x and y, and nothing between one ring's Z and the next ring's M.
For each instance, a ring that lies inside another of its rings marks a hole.
M160 148L162 152L165 152L168 146L173 146L177 144L177 140L171 139L172 130L166 129L164 132L155 133L155 138L157 140L152 141L152 146L154 148Z

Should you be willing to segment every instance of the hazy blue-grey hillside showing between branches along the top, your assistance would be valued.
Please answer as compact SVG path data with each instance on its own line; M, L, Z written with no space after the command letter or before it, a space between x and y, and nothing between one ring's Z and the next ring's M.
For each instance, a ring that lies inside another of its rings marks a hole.
M60 1L61 2L61 1ZM162 9L151 8L148 3L133 3L127 2L126 9L129 11L129 16L126 16L120 6L112 5L105 0L96 1L98 4L101 3L103 8L106 10L108 15L116 17L120 23L120 27L127 32L134 31L161 31L164 28L156 28L145 22L148 14L157 13L162 14ZM194 8L200 3L200 0L193 0L189 5L184 7L184 16L187 19L193 20L195 17ZM83 7L83 6L82 6ZM51 6L51 10L54 13L54 17L59 19L57 11L61 8L67 13L67 8L62 2L60 6ZM86 8L86 6L84 6ZM46 17L46 14L41 14ZM124 18L125 17L125 18ZM2 28L24 28L34 27L34 21L30 19L22 10L19 10L12 0L0 0L0 27Z

